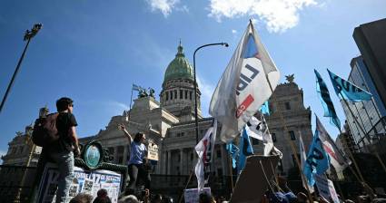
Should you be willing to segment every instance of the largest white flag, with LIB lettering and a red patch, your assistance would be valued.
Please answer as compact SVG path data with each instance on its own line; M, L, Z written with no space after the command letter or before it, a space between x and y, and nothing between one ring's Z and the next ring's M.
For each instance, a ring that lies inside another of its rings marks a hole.
M213 92L209 113L223 124L221 140L233 140L272 95L280 73L250 22Z

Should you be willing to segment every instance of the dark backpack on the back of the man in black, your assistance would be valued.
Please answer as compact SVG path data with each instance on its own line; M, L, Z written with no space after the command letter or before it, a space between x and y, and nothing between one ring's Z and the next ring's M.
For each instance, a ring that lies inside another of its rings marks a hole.
M48 114L45 118L35 121L32 140L39 147L46 147L59 140L59 133L56 129L56 118L59 113Z

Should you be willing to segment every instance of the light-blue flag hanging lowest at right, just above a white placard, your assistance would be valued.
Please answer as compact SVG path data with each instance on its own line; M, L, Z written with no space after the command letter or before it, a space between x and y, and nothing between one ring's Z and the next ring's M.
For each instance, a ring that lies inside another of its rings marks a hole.
M329 169L329 166L330 160L326 151L323 149L322 141L319 139L319 131L315 130L311 148L308 151L307 160L303 168L304 176L307 178L308 183L313 186L315 183L313 174L322 175Z

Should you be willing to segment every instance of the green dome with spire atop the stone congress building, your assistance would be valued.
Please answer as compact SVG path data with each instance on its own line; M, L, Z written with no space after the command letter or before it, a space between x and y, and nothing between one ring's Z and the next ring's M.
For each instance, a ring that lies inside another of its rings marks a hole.
M178 45L178 52L175 54L175 58L167 66L163 83L174 79L189 79L193 81L193 67L185 58L183 54L183 46Z

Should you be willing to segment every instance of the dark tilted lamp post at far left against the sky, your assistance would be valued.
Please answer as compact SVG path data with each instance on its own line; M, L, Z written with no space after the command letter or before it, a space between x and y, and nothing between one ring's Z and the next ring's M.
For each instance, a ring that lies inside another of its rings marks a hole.
M25 44L25 50L23 51L22 56L20 57L19 62L16 65L15 73L12 76L11 82L9 82L8 87L6 88L5 95L3 97L3 101L0 104L0 112L3 110L3 106L5 104L8 93L11 90L12 84L15 81L16 74L19 72L20 65L22 64L23 59L25 58L25 52L27 50L28 44L31 41L31 39L37 34L37 32L39 32L39 30L41 28L42 28L42 24L34 24L34 27L31 29L31 31L29 31L29 30L25 31L24 41L27 41L27 43Z

